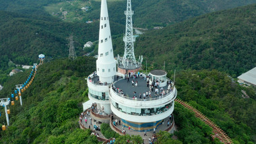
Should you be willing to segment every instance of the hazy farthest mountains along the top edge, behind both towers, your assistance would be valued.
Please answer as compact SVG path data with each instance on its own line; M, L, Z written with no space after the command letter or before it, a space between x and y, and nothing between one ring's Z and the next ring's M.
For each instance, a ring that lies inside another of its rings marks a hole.
M86 19L95 20L99 17L100 1L88 1L92 9L84 13ZM0 10L13 11L16 13L50 15L44 10L44 6L63 3L63 0L1 0ZM72 2L72 1L71 1ZM230 9L243 5L256 3L256 0L132 0L131 5L134 13L134 26L142 28L152 28L153 26L166 26L177 22L182 22L191 17L203 15L213 11ZM88 5L89 5L88 4ZM80 7L81 8L81 7ZM77 9L76 11L82 11ZM125 24L126 0L108 1L108 11L111 20L119 24ZM79 12L77 12L79 13ZM123 32L123 31L121 31Z

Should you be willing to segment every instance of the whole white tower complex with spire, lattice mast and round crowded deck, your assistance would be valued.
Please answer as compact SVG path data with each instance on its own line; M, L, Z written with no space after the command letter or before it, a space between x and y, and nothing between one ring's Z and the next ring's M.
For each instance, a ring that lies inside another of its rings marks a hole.
M91 119L88 117L89 122L83 127L90 128L90 125L109 122L110 127L121 135L123 134L121 130L124 127L142 133L154 129L172 132L174 129L172 112L177 89L174 87L174 83L166 77L166 71L154 70L150 73L135 73L141 69L143 58L141 56L138 62L134 57L133 42L135 42L135 38L131 21L133 14L131 0L127 0L125 14L127 15L124 37L125 55L123 58L118 58L117 72L106 0L101 1L96 71L86 78L90 106L85 108L86 103L83 104L84 113L90 112L90 114L87 113L87 116L90 116ZM121 124L117 126L116 120L120 120Z

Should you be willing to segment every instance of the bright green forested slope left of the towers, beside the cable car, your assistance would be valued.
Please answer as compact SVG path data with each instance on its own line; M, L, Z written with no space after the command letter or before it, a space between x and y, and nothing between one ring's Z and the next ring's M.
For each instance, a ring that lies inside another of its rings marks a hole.
M79 129L82 102L88 100L84 77L92 72L95 59L59 59L38 68L32 85L22 93L23 106L8 106L10 127L0 132L0 143L98 143L90 131ZM24 83L30 71L18 73L5 83L0 98L11 96L15 84ZM1 108L0 123L6 122Z

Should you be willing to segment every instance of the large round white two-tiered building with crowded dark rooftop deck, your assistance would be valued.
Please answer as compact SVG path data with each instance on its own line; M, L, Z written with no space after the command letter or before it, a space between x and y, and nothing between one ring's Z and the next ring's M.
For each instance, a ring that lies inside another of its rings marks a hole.
M170 79L162 79L162 87L154 85L150 89L149 83L154 81L155 75L137 77L135 79L119 79L109 89L111 110L120 118L131 122L157 122L170 116L174 110L174 100L177 89ZM147 81L148 80L148 81ZM137 81L137 86L131 81ZM164 85L166 83L166 85ZM158 89L158 92L156 92ZM151 94L150 94L151 91ZM148 96L144 97L148 92ZM141 95L140 95L141 94Z

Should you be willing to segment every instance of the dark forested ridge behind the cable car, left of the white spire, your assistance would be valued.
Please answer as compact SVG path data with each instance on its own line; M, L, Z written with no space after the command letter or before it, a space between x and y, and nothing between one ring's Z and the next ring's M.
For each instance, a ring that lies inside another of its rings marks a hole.
M75 37L77 55L83 54L82 47L87 41L98 40L98 22L69 23L52 16L7 11L0 11L0 15L0 61L11 59L14 63L31 64L40 53L51 58L67 57L67 38L71 34ZM113 23L112 26L115 27L113 35L123 29L119 24Z

